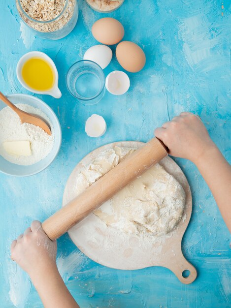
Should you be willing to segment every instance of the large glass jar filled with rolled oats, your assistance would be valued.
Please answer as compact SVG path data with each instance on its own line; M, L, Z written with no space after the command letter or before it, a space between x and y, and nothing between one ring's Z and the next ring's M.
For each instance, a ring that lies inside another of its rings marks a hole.
M76 0L16 0L16 6L23 22L44 39L65 37L78 20Z

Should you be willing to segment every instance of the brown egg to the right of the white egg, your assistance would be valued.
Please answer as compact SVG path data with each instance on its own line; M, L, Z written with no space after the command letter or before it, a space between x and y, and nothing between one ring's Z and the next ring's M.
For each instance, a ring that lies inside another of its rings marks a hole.
M143 50L129 41L123 41L117 45L116 58L124 69L132 73L140 71L146 62Z

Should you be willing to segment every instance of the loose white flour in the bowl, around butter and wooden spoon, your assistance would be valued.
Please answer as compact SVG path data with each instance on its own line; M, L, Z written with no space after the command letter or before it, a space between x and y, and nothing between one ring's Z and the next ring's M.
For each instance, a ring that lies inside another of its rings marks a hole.
M27 104L16 104L19 109L38 115L49 123L48 117L39 109ZM50 125L51 126L51 125ZM9 107L0 110L0 155L18 165L33 165L49 154L54 145L54 132L48 135L43 129L29 123L21 123L18 115ZM3 148L4 141L24 141L31 143L31 156L8 154Z

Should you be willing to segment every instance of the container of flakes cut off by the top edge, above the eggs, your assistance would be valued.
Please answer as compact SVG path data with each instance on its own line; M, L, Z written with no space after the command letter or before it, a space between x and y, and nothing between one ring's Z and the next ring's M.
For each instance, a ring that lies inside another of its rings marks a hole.
M124 0L86 0L86 2L97 12L110 13L117 10Z

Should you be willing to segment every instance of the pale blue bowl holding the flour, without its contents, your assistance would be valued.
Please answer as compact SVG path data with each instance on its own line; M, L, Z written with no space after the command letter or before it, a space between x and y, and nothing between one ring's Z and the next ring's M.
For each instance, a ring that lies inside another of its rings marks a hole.
M54 133L55 136L54 146L51 152L45 158L36 162L35 164L30 166L16 165L4 159L0 155L0 172L16 177L31 176L47 168L58 155L62 141L61 126L54 111L41 99L27 94L11 94L7 95L7 97L14 104L28 104L40 109L47 115L51 125L53 126L52 133ZM0 100L0 110L4 107L6 107L6 105Z

